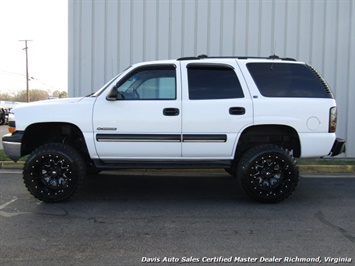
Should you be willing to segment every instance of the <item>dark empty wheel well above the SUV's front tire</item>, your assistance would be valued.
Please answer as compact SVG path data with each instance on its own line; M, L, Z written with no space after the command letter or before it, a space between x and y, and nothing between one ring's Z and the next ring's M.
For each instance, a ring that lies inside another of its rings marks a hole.
M84 136L77 126L70 123L37 123L25 130L21 145L22 156L50 142L65 143L83 155L88 154Z

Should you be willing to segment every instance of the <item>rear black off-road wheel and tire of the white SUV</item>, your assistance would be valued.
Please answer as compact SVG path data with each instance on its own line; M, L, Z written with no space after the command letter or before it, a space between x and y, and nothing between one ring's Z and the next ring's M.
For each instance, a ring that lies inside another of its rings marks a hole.
M237 176L250 197L263 203L276 203L295 190L299 171L294 157L286 149L264 144L242 156Z

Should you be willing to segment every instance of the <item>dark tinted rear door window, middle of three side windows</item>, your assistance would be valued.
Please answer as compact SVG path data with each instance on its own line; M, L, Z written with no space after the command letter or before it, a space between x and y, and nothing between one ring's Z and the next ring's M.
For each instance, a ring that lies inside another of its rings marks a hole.
M228 66L190 64L188 83L191 100L244 97L234 70Z

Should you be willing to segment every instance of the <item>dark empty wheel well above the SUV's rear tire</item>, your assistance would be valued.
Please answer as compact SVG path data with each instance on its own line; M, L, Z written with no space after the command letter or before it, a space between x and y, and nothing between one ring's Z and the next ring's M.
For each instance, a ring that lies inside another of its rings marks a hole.
M301 145L296 130L283 125L260 125L245 129L239 138L236 159L246 150L258 144L275 144L293 152L294 157L300 157Z

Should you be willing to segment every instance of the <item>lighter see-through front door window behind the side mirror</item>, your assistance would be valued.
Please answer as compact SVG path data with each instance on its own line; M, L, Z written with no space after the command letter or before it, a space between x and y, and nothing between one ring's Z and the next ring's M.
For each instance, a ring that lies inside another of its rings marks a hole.
M115 89L124 100L174 100L176 99L175 66L140 67L120 80Z

